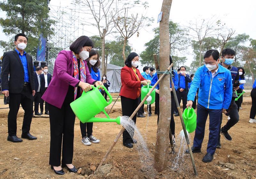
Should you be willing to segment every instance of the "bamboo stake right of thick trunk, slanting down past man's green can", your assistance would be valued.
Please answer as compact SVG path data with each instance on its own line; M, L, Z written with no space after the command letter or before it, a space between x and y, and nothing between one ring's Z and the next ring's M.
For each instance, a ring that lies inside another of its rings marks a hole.
M187 144L188 144L188 150L189 150L190 158L191 158L192 165L193 165L193 168L194 168L194 173L195 173L195 175L198 175L198 174L197 174L197 170L196 170L195 160L194 160L193 153L192 153L191 146L190 146L189 139L188 139L187 130L186 130L186 127L185 127L183 118L182 118L182 116L181 116L180 104L179 104L179 102L178 102L178 98L177 98L177 94L176 94L176 91L175 91L175 88L174 88L174 83L173 83L173 81L172 81L172 78L171 78L171 84L172 84L172 89L173 89L172 92L173 92L173 95L174 95L174 99L175 99L175 102L176 102L176 106L177 106L177 108L178 108L179 115L180 115L181 125L182 125L183 131L184 131L184 134L185 134L185 138L186 138L186 141L187 141Z

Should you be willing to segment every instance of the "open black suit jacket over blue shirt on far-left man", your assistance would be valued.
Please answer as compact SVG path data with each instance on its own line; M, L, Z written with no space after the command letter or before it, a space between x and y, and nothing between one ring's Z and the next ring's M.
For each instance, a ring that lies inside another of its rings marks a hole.
M35 90L33 61L30 55L26 54L26 57L30 82L29 85L32 93L32 90ZM9 74L10 78L8 80ZM21 93L24 87L24 68L20 57L15 50L4 53L1 79L3 90L9 90L9 93Z

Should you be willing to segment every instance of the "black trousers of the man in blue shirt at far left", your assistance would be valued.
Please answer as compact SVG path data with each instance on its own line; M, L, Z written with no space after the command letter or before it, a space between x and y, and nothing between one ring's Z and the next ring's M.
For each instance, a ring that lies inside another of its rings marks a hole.
M23 90L19 94L10 93L9 97L10 110L8 114L8 135L16 136L17 114L20 109L20 104L25 111L22 124L22 133L29 133L33 113L33 95L30 86L24 86Z

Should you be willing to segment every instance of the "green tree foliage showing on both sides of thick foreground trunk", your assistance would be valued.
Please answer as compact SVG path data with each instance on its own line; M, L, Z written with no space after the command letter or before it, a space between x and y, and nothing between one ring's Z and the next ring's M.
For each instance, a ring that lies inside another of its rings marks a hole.
M159 27L154 29L155 36L152 40L145 43L146 49L141 52L140 57L142 60L140 61L143 65L151 65L154 66L154 58L153 54L159 56ZM177 51L183 51L188 47L188 37L187 30L181 28L178 23L174 23L172 21L169 22L169 42L170 42L170 53L175 55Z

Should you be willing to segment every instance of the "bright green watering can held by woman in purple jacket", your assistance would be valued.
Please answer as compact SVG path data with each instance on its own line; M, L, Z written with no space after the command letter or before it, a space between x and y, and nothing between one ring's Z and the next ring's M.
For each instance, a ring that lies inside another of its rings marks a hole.
M102 87L109 97L109 102L105 100L103 95L100 93L99 88ZM116 122L121 124L122 117L119 116L116 119L111 119L105 111L112 102L112 96L108 93L105 86L92 86L92 90L83 92L82 95L75 101L70 103L71 109L82 123L93 123L93 122ZM94 117L95 115L103 112L107 118Z

